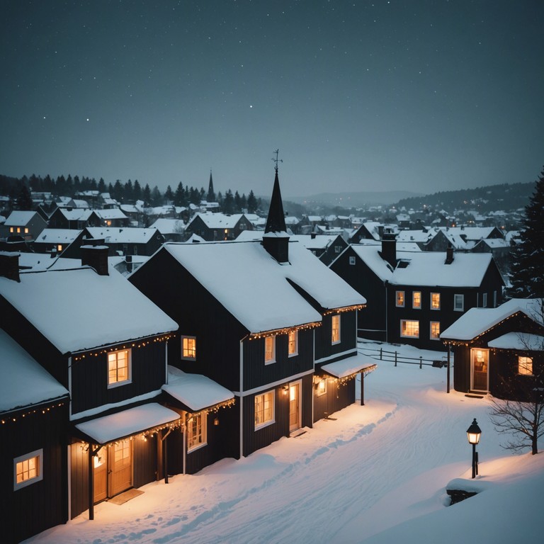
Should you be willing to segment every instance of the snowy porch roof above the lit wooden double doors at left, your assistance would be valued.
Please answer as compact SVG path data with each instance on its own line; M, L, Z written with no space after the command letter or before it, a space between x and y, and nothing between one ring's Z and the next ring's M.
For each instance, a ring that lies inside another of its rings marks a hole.
M179 419L179 414L157 402L142 404L109 416L97 417L76 425L97 444L107 444L142 431L165 426Z

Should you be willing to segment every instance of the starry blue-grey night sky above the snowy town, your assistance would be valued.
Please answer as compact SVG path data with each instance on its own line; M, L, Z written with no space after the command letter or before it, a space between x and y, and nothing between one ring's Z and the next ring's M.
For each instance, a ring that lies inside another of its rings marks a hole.
M544 2L0 1L0 174L269 196L535 181Z

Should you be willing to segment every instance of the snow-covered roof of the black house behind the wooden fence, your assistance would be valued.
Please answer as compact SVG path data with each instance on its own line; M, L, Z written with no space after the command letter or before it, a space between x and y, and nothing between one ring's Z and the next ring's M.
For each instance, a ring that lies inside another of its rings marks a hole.
M443 251L397 251L402 266L392 269L380 255L381 245L353 244L353 251L382 280L394 285L427 285L429 287L477 287L482 283L492 255L455 253L446 264Z

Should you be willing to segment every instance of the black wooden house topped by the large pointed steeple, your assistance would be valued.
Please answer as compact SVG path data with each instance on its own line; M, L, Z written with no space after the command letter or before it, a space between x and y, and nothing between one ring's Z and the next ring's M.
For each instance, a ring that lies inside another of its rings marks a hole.
M217 425L193 420L197 433L207 425L207 444L194 462L187 451L188 470L220 457L249 455L311 427L316 353L322 363L353 356L358 371L368 363L355 361L355 316L365 299L305 247L289 241L277 171L262 241L166 243L129 279L180 325L169 364L234 393L234 405ZM339 313L345 315L344 336L336 327L338 343L331 351L327 325L314 351L315 332L333 319L329 314ZM321 346L327 341L328 349ZM341 402L323 404L322 412L353 402L348 389L355 380L349 381ZM334 387L327 395L336 397Z

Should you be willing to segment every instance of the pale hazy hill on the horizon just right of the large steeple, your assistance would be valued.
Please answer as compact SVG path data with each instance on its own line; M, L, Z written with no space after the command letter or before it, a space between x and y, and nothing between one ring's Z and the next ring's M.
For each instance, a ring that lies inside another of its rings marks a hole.
M368 206L390 205L407 198L421 198L422 193L410 191L361 191L358 193L318 193L310 196L290 196L285 200L314 206L339 206L341 208L368 208Z

